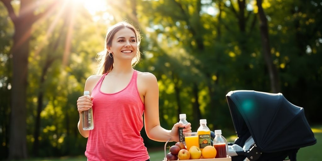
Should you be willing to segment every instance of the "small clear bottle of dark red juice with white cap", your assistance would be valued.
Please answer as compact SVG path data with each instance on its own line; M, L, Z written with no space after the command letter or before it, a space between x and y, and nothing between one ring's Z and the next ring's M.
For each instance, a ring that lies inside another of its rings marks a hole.
M228 154L227 140L222 136L221 130L215 130L215 138L213 139L213 147L217 150L215 158L225 158Z

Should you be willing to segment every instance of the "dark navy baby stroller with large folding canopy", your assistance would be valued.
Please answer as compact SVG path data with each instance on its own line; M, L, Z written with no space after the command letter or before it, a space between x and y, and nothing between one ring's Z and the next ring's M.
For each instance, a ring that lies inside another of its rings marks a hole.
M291 104L281 93L235 90L227 102L237 134L234 144L249 150L236 151L232 161L296 161L301 147L317 140L305 118L304 109Z

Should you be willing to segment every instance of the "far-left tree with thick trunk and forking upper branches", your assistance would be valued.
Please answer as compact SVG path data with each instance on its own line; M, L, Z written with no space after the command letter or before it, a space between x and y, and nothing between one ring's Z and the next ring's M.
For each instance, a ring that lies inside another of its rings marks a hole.
M26 146L26 87L29 42L33 24L50 14L60 1L54 1L42 13L34 14L37 7L33 0L21 0L19 14L14 13L12 0L1 0L14 24L12 54L12 93L9 159L27 158ZM31 7L32 6L32 7ZM52 7L54 6L54 7Z

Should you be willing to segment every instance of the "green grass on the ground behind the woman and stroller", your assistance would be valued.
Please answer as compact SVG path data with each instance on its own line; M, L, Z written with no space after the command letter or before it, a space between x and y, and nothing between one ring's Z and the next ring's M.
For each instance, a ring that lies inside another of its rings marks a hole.
M314 132L314 137L317 140L322 138L322 125L312 127L312 131ZM227 140L232 142L235 136L228 137ZM171 145L171 143L169 143ZM317 141L317 143L313 146L300 148L297 153L297 161L315 161L322 160L322 142ZM163 147L159 149L148 149L150 160L151 161L162 161L164 158L164 150ZM167 149L168 152L168 149ZM60 157L60 158L39 158L39 159L28 159L26 161L86 161L87 158L85 156L77 156L77 157Z

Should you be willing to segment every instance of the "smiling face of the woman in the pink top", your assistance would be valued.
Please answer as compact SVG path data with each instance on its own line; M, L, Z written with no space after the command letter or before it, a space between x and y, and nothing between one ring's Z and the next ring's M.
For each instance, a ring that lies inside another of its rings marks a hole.
M113 53L114 60L132 60L137 53L135 33L127 27L119 30L115 33L108 51Z

